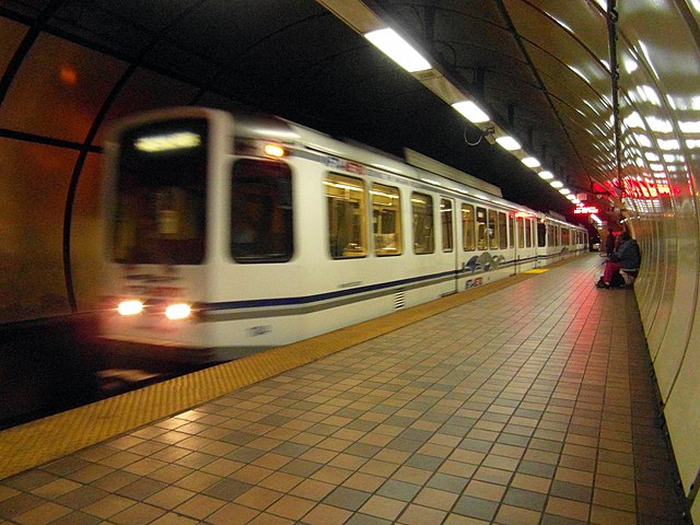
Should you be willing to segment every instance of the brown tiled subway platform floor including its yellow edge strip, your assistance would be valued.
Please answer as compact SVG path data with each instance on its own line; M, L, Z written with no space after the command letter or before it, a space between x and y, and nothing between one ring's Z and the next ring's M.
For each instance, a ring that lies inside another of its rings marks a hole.
M0 523L690 523L633 291L596 289L600 260L8 429Z

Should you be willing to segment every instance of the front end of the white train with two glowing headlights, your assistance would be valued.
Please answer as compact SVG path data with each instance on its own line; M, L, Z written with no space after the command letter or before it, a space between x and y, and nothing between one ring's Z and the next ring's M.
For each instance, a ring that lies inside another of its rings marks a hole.
M175 359L207 346L210 127L206 114L143 119L108 145L101 335L116 347Z

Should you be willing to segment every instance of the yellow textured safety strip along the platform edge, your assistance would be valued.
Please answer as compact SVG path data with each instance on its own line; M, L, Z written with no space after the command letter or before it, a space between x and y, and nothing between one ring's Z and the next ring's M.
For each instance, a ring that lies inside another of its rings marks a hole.
M552 266L575 260L570 258ZM0 432L0 479L63 457L533 277L532 272L248 355Z

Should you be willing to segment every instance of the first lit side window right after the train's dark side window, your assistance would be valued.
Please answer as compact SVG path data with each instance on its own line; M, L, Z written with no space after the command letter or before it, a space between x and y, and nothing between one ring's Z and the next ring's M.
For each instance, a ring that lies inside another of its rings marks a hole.
M334 259L366 256L364 180L329 173L324 185L328 202L330 256Z

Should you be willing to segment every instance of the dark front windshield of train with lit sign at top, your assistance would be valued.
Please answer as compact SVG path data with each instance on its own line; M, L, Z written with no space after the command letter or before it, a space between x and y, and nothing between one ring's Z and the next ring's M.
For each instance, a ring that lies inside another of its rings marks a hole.
M207 120L150 122L125 131L116 171L113 260L201 264Z

